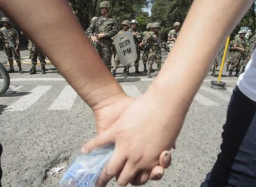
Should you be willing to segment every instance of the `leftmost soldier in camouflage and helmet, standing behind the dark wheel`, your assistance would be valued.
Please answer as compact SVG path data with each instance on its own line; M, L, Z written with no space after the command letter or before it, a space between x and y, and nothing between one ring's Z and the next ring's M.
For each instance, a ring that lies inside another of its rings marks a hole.
M8 70L8 73L14 73L14 59L17 62L17 65L19 66L19 73L23 73L20 57L19 57L19 34L17 30L15 30L9 18L3 17L1 19L1 23L4 27L0 29L0 39L4 45L4 52L7 55L7 59L10 65L10 70ZM7 33L7 36L4 36L4 33ZM9 41L9 39L11 41ZM14 46L12 46L9 42L12 42Z

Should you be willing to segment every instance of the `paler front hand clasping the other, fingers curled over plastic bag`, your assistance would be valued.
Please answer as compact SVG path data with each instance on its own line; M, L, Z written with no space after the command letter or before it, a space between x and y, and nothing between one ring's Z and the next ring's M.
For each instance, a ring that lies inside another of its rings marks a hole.
M105 186L113 177L117 177L117 183L121 186L128 183L142 185L152 178L151 172L158 170L161 163L161 153L174 146L178 133L174 126L180 125L185 116L176 113L179 110L173 108L173 116L164 117L160 108L152 98L147 102L142 98L134 100L111 127L83 146L83 152L87 153L115 143L114 154L98 186Z

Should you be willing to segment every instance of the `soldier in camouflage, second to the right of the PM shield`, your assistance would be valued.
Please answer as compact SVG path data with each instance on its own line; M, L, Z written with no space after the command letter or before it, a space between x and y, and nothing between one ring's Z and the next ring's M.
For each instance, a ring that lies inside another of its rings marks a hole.
M147 40L150 42L150 52L148 54L148 78L151 78L151 71L153 63L155 62L158 67L158 73L161 70L161 41L160 41L160 24L153 23L152 31L147 35Z

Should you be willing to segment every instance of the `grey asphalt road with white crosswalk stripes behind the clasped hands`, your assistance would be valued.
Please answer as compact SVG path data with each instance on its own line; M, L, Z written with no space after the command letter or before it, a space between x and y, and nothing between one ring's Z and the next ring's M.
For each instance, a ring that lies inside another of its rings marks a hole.
M1 53L0 53L1 55ZM40 68L29 75L11 74L11 87L0 97L0 142L4 147L1 162L3 186L58 186L67 165L79 154L80 147L95 137L91 109L77 96L54 66L47 74ZM131 69L131 72L134 68ZM117 74L127 94L140 97L153 79ZM145 186L200 186L220 151L226 109L237 78L223 78L228 89L210 89L205 78L187 115L184 128L172 151L173 162L163 180ZM51 169L65 167L49 175ZM114 182L108 186L117 186Z

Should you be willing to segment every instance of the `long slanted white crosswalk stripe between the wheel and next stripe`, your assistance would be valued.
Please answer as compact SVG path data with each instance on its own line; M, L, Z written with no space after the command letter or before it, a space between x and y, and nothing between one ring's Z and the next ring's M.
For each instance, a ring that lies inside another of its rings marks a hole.
M37 86L31 90L31 94L22 96L19 100L15 101L12 105L6 108L7 111L25 111L30 108L40 97L42 97L51 86Z

